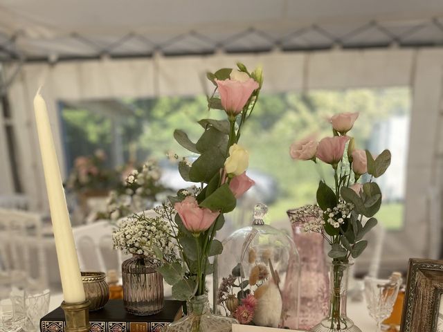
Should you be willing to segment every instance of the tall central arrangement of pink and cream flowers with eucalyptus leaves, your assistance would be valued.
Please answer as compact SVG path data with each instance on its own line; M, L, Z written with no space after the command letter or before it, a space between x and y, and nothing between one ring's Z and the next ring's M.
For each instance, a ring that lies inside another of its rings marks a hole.
M223 250L215 234L224 225L224 213L233 211L237 199L254 184L246 175L249 155L239 145L239 138L260 94L262 71L256 68L249 72L240 63L237 68L222 68L207 75L215 86L208 108L224 110L227 120L200 120L203 133L197 142L184 131L174 131L181 146L199 155L192 164L179 162L181 177L196 183L197 189L179 190L169 203L156 209L170 221L182 259L159 267L176 299L188 300L207 292L206 275L213 273L210 257Z

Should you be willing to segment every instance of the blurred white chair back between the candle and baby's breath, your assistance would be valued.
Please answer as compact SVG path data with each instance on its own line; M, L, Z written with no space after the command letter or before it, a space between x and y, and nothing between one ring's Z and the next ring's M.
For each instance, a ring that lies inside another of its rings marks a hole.
M114 226L107 220L73 228L80 270L121 273L123 257L120 250L112 248L113 230Z

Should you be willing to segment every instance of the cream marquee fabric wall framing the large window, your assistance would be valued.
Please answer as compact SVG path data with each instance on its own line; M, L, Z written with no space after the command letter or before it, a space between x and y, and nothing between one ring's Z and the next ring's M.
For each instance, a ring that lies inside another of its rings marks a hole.
M311 53L266 53L161 57L150 59L101 59L100 61L25 64L8 91L12 122L17 133L19 172L33 208L46 210L46 195L33 118L33 96L44 82L43 95L63 167L59 100L96 98L146 98L159 95L195 95L210 91L206 70L262 64L264 91L307 91L353 87L410 86L413 109L406 187L404 229L389 235L385 249L395 262L408 257L437 257L440 248L442 191L442 93L443 49L328 50ZM6 74L14 68L6 66ZM1 118L0 118L1 124ZM0 126L1 128L1 126ZM1 129L0 129L1 130ZM0 142L4 133L0 131ZM0 144L1 156L6 156ZM1 174L10 174L0 162ZM63 174L66 175L66 174ZM8 178L8 176L3 176ZM0 194L12 186L1 184Z

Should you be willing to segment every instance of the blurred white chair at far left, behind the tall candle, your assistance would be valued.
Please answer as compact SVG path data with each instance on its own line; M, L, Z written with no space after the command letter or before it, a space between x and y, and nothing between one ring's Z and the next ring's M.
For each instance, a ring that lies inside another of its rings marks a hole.
M39 214L0 209L0 271L3 282L26 288L48 286Z

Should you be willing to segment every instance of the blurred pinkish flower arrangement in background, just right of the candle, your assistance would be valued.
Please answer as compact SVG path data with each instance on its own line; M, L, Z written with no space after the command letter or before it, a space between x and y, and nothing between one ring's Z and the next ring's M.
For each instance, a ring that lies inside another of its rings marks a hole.
M105 166L105 151L98 149L93 156L75 158L66 181L66 188L75 192L100 192L116 184L116 171Z

